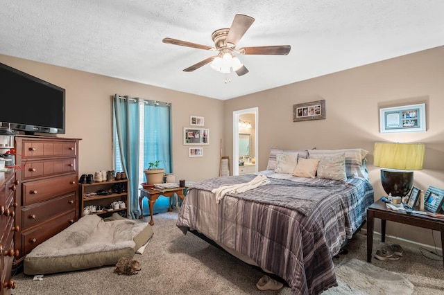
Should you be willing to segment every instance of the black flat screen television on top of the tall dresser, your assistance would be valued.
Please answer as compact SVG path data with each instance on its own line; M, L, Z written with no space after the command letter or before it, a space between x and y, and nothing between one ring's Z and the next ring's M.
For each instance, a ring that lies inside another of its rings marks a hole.
M65 134L65 89L0 63L0 127Z

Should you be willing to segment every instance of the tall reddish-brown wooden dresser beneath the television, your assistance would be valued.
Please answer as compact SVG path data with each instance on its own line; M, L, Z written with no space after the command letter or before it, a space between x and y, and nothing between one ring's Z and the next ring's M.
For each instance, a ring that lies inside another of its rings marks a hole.
M15 136L17 264L38 244L78 220L76 138Z

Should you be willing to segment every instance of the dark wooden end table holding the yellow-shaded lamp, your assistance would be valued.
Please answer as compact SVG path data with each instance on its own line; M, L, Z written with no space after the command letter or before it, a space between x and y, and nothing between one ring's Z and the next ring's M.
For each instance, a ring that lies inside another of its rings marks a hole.
M381 219L381 242L386 240L386 221L399 222L425 229L441 232L441 243L444 246L444 218L436 218L418 213L407 214L405 211L393 211L386 207L381 199L367 209L367 261L372 261L373 252L373 224L375 218ZM444 267L444 261L443 261Z

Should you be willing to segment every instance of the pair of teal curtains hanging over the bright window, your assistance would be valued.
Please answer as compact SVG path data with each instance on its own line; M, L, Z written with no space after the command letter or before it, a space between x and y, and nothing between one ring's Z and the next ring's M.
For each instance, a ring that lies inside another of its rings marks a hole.
M144 169L148 168L148 163L160 161L159 167L164 168L165 173L173 173L171 105L166 102L122 97L116 94L113 100L113 112L114 167L117 171L123 170L128 175L130 182L128 208L130 217L134 219L139 213L139 187L145 181ZM157 199L153 212L167 211L168 200L166 197ZM142 206L147 214L146 198Z

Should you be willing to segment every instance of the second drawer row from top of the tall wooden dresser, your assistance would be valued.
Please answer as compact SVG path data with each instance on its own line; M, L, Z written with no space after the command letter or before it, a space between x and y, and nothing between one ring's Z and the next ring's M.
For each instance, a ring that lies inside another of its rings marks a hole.
M26 163L26 168L22 170L22 179L28 180L35 177L45 177L75 171L75 158L62 160L30 161Z

